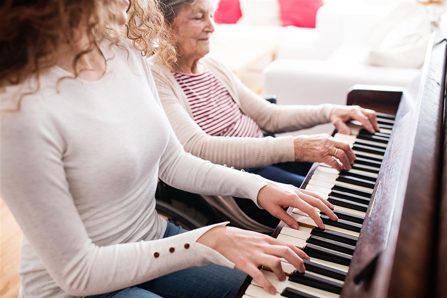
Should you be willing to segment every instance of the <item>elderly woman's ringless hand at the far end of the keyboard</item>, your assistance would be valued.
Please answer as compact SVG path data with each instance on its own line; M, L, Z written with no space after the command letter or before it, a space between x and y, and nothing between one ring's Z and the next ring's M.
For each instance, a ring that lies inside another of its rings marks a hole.
M329 119L342 134L351 134L351 130L346 125L346 122L350 120L362 122L363 127L371 134L379 130L375 111L363 109L358 105L338 105L329 114Z

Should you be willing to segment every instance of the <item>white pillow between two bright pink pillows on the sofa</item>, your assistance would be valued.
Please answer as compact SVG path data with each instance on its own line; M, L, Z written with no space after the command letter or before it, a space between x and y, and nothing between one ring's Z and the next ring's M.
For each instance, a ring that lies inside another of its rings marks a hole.
M236 24L281 25L278 0L239 0L242 17Z

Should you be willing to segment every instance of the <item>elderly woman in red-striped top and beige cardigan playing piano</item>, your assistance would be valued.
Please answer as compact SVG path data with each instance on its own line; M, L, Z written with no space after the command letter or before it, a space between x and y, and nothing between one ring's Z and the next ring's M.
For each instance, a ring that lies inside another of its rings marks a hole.
M350 169L353 151L328 134L273 138L264 137L263 130L294 131L330 121L349 134L345 122L351 119L362 122L370 132L379 129L374 111L358 106L279 106L266 102L230 69L206 56L214 31L216 1L160 2L175 40L177 61L169 69L154 56L151 67L163 108L186 151L215 164L244 168L299 187L308 167L291 162L325 162L338 170ZM251 202L235 199L250 218L276 227L276 218L259 212Z

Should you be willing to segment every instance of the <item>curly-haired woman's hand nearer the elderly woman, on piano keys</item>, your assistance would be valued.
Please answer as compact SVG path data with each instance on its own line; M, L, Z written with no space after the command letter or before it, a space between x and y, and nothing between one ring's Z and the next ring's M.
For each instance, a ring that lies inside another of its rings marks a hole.
M266 181L267 185L261 188L257 194L257 203L270 214L281 219L288 226L295 229L299 228L298 222L284 211L284 208L289 206L307 213L321 229L325 229L325 225L314 207L323 211L330 219L338 219L337 215L331 210L334 206L315 193L305 189L299 189L293 185L278 183L267 179Z

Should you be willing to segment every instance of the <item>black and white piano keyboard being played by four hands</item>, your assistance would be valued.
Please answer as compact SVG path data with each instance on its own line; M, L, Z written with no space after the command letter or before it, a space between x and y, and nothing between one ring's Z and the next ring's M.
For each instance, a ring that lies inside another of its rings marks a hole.
M377 113L377 121L380 131L375 134L354 121L349 124L351 135L336 133L334 138L349 143L354 150L357 159L352 169L339 172L327 164L319 164L305 188L328 200L334 206L338 220L333 221L317 210L326 227L321 230L306 213L294 208L291 215L299 223L299 230L286 226L277 237L308 254L311 260L304 260L306 272L299 273L287 260L281 259L288 276L286 281L279 281L267 267L261 269L276 288L276 294L266 292L252 280L242 297L340 296L391 135L394 116Z

